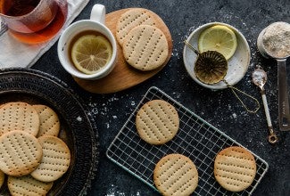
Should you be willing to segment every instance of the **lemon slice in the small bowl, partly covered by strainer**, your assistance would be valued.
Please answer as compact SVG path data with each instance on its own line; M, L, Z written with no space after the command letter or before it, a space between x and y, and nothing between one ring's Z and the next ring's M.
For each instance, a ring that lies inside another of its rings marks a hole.
M223 25L215 25L205 29L198 38L198 50L200 53L206 51L217 51L228 60L236 52L236 34L232 29Z

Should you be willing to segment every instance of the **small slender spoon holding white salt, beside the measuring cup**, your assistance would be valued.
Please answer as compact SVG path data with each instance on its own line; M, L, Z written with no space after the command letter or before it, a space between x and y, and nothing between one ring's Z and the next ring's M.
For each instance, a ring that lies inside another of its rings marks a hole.
M277 143L278 137L277 135L275 135L273 127L272 127L271 118L269 116L268 102L267 102L266 93L264 89L264 85L266 84L266 81L267 81L267 74L263 69L260 68L260 66L258 66L257 69L253 71L252 78L253 78L253 84L255 84L256 86L259 86L261 89L261 98L263 101L264 110L265 110L267 123L269 127L268 141L269 143Z

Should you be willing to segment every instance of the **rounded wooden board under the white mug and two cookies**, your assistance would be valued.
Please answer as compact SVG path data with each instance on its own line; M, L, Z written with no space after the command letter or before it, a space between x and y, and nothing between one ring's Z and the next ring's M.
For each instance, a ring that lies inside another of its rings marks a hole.
M116 23L120 15L124 12L127 12L130 9L134 8L122 9L119 11L110 12L106 14L106 26L112 30L113 35L115 35L116 33ZM166 61L163 63L162 67L151 71L140 71L132 68L125 61L121 46L117 44L118 59L117 64L115 68L112 70L112 72L108 76L98 80L84 80L74 78L75 81L79 84L79 86L81 86L88 92L95 94L110 94L119 92L121 90L128 89L129 87L136 86L144 82L148 78L152 78L168 63L171 57L173 47L170 30L168 29L164 21L156 13L154 12L151 13L153 15L153 19L156 20L156 27L162 30L165 37L167 38L169 45L169 55Z

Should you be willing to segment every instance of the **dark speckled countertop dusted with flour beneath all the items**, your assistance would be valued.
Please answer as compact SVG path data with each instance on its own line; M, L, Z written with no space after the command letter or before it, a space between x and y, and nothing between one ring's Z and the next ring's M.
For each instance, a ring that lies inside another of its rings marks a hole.
M170 29L173 53L167 66L153 78L115 94L90 94L79 88L62 69L57 58L56 44L32 67L62 79L86 101L94 114L99 134L100 159L88 195L159 195L135 176L112 163L105 155L113 138L151 86L159 87L269 163L269 171L253 195L290 195L290 133L278 133L279 143L270 145L262 108L255 114L248 113L230 90L211 91L197 85L186 73L182 59L183 40L200 25L220 21L239 29L250 45L252 58L246 75L236 87L253 94L261 102L261 94L253 85L251 74L257 64L267 71L269 80L265 86L266 94L273 127L278 130L277 65L276 61L262 58L256 48L256 39L261 29L272 22L290 22L289 0L91 0L76 20L87 19L93 4L104 4L107 12L143 7L157 13ZM287 61L287 65L289 67L290 61ZM288 77L290 78L290 70Z

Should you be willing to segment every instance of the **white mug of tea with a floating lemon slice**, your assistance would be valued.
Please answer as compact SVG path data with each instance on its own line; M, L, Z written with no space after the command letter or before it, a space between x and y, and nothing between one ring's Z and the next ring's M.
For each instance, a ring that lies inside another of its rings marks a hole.
M112 31L104 25L104 19L104 5L95 4L90 20L76 21L63 30L58 41L57 54L63 69L73 77L95 80L106 77L114 69L117 62L117 43ZM92 31L93 34L100 32L103 35L95 37L89 34Z

